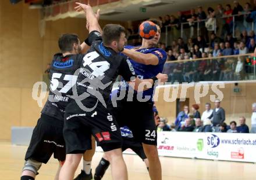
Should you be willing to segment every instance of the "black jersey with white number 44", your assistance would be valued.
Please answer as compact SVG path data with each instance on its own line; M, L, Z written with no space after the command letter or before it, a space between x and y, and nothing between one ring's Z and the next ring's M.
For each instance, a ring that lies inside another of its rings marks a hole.
M104 99L108 99L118 75L127 81L136 75L126 57L103 45L98 31L91 32L88 38L91 47L81 63L77 93L83 94L86 91L96 98L99 93Z

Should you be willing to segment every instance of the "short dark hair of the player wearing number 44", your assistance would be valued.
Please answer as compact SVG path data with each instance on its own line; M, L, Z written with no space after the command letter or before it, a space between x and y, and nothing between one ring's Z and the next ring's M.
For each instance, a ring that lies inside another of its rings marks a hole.
M119 41L121 34L126 33L125 28L119 24L106 24L102 32L104 45L110 45L113 41Z

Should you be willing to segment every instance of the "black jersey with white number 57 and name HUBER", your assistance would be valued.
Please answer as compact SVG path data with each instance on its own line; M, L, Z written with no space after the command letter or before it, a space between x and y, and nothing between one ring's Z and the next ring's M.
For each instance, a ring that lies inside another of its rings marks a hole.
M71 99L67 95L73 95L72 87L76 85L77 80L74 73L80 68L83 56L84 54L62 56L61 53L54 55L49 74L49 97L41 113L63 120L66 105Z

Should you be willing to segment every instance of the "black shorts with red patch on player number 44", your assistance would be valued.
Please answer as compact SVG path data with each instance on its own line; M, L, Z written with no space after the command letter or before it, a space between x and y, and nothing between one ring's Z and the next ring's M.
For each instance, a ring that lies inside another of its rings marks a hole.
M86 104L96 102L88 98L85 101ZM93 111L85 112L72 100L66 107L63 135L67 154L84 153L91 149L91 135L104 152L122 147L120 128L101 102Z

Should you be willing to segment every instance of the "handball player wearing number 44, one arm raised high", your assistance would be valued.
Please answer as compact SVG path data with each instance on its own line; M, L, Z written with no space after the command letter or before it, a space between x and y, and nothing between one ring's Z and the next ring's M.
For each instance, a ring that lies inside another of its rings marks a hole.
M77 4L77 10L83 9L86 12L90 33L88 44L91 47L83 58L76 89L73 89L73 100L65 111L63 135L67 155L59 177L62 180L73 179L83 153L91 148L88 141L91 141L93 134L111 164L112 178L127 179L120 129L105 102L109 101L109 94L118 75L122 75L135 90L138 90L142 82L147 85L150 83L151 87L157 79L165 82L167 75L158 74L144 80L137 78L129 61L119 55L126 43L125 28L116 24L105 25L102 40L98 41L94 36L101 36L101 28L93 9L82 3ZM142 90L146 89L143 86Z

